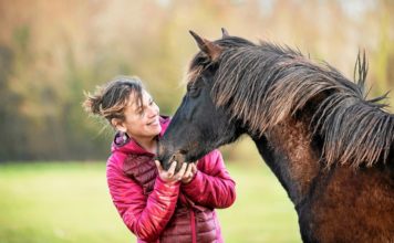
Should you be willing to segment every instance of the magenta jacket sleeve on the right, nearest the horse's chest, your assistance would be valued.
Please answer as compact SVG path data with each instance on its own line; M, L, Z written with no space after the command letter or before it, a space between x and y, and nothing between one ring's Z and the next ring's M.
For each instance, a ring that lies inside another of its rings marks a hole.
M221 154L214 150L197 163L198 171L182 190L195 203L209 208L228 208L236 200L236 183L226 170Z

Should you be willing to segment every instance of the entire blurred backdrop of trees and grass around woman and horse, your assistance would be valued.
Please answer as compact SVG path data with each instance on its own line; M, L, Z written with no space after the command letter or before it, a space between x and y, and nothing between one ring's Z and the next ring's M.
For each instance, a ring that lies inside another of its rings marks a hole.
M375 97L394 87L393 12L390 0L0 0L0 242L133 239L106 190L113 130L84 113L84 91L137 75L172 115L197 52L188 30L215 40L224 27L350 80L365 50ZM236 204L219 212L226 241L300 242L292 204L255 145L221 150L238 183Z

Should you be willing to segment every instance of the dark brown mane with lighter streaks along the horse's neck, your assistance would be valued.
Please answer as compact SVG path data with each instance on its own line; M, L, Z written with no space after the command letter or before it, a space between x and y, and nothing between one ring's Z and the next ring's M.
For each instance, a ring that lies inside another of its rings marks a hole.
M226 39L220 42L225 46L231 43ZM323 94L324 98L315 104L311 128L323 138L322 157L328 165L341 161L359 167L386 161L394 139L394 116L376 103L386 95L366 99L365 54L357 56L356 83L326 63L313 63L299 51L268 42L226 46L218 63L214 101L227 107L232 118L242 120L251 133L261 136Z

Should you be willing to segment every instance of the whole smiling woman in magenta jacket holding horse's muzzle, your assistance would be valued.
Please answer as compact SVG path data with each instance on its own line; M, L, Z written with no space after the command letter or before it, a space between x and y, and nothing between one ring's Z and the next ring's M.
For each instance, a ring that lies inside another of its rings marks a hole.
M118 77L87 94L87 112L117 131L106 165L112 200L138 242L222 242L214 209L228 208L235 182L214 150L197 165L176 161L165 171L155 160L169 124L136 77Z

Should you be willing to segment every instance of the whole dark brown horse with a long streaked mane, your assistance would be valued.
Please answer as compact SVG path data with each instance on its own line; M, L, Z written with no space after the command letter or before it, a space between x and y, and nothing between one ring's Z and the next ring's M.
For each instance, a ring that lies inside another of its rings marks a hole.
M299 50L190 34L199 52L159 140L164 168L248 135L294 204L303 242L394 242L394 116L354 82Z

